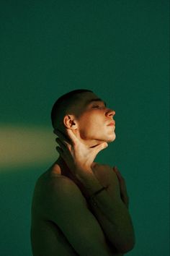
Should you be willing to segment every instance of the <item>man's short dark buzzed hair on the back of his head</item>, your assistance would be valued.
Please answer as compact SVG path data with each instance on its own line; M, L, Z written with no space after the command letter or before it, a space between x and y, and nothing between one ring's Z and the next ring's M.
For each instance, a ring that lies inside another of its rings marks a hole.
M75 106L76 103L79 103L79 95L86 92L93 93L92 90L86 89L71 90L69 93L62 95L57 101L55 101L51 111L51 122L53 128L56 128L56 126L63 123L63 117L68 114L71 107Z

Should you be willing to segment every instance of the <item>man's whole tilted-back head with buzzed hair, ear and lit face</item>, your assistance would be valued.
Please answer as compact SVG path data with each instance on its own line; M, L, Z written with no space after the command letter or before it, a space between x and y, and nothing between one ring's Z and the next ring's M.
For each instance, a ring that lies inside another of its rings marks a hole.
M115 140L115 111L91 90L73 90L54 103L51 120L54 129L66 134L72 129L87 145ZM112 123L111 125L108 125Z

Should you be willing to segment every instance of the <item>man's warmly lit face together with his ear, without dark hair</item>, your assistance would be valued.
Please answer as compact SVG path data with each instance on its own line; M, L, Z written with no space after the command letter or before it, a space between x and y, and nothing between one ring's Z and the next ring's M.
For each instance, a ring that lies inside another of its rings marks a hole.
M72 108L72 113L75 114L68 114L63 118L65 135L66 129L71 129L74 135L89 147L114 141L115 125L108 126L108 124L115 123L113 120L115 111L107 108L104 101L95 101L98 97L94 93L83 93L80 97L79 105ZM94 101L91 102L91 99Z

